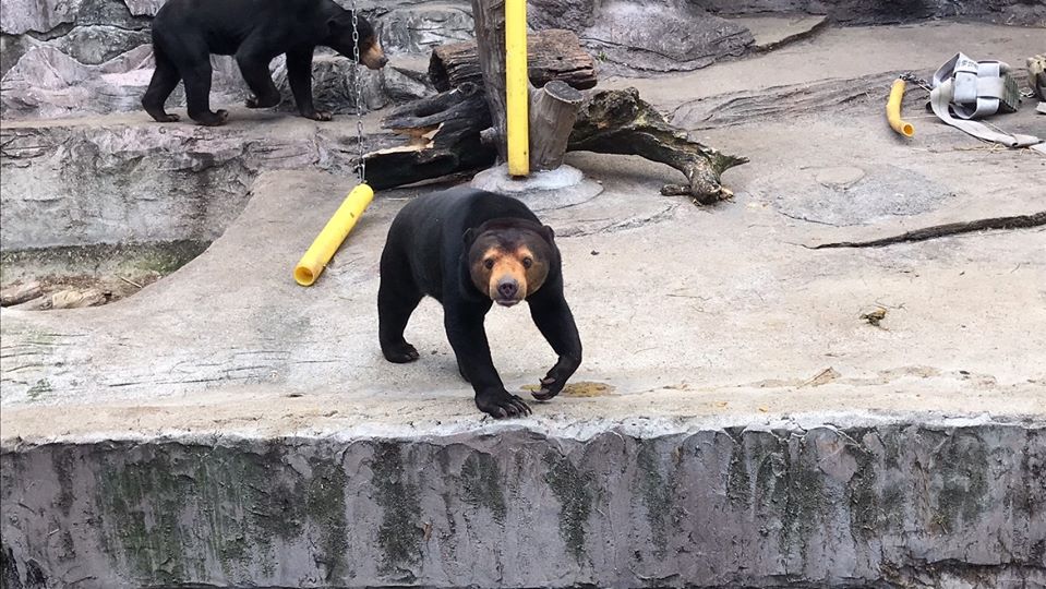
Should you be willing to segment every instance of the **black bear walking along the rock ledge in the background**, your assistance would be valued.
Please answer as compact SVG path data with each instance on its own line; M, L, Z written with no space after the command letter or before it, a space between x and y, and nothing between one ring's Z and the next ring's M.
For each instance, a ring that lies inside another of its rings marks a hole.
M374 28L358 19L360 62L372 70L388 61ZM200 124L225 122L228 112L211 110L211 55L236 56L254 96L249 108L279 104L268 63L287 53L287 79L302 117L330 120L312 104L312 52L317 45L352 58L352 13L334 0L168 0L153 19L156 71L142 98L154 119L177 121L164 103L185 82L189 117Z

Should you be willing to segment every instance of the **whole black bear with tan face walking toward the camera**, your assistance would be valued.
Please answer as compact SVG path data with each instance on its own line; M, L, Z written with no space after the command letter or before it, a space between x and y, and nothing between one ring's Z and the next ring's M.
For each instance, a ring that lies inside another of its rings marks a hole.
M553 231L515 199L456 188L419 196L399 212L382 252L377 293L378 338L388 361L418 359L404 329L425 294L443 304L447 338L476 390L476 406L495 418L530 408L505 390L491 360L483 321L494 302L512 306L526 299L560 357L534 398L556 396L581 363Z

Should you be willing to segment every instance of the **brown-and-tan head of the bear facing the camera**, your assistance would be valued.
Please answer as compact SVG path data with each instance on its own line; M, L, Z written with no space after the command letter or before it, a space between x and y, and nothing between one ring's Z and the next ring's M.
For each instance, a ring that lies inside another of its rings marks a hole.
M469 278L480 292L512 306L541 288L558 264L549 226L495 219L465 232Z

